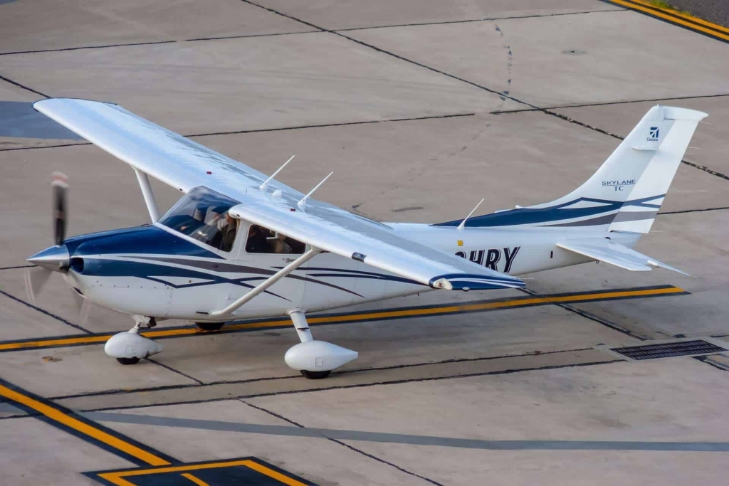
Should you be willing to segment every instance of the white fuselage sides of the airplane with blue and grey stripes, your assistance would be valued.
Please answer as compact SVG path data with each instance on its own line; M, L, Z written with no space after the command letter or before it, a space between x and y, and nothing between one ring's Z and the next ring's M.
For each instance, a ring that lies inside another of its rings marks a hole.
M608 234L595 228L466 227L457 230L455 227L428 224L394 223L389 226L404 238L510 275L593 261L556 246L556 243L570 238L609 235L612 240L627 246L633 246L637 239L636 235ZM155 227L187 240L187 243L203 246L203 243L159 224ZM123 254L117 251L114 254L86 255L87 268L90 268L89 262L95 260L102 264L116 264L122 269L131 266L136 270L106 272L104 275L82 275L69 271L66 279L91 301L122 313L158 319L213 320L206 314L227 307L296 256L246 254L241 246L241 242L236 242L233 251L223 258L222 254L181 256L172 252ZM284 315L292 308L313 312L431 290L429 286L354 259L323 253L240 307L232 318Z

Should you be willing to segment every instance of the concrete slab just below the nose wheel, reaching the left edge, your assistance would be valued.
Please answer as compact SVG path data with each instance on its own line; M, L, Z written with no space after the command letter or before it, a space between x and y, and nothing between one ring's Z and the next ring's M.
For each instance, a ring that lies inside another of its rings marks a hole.
M195 383L149 361L125 367L103 345L2 353L0 368L5 380L40 396Z

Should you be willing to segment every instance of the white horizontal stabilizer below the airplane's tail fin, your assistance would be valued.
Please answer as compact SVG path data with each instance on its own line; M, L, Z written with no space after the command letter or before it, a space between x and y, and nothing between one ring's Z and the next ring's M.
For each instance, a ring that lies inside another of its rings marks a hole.
M588 258L625 268L625 270L633 270L634 272L647 272L651 270L651 267L660 267L666 270L673 270L682 275L688 275L675 267L671 267L671 265L658 262L658 260L652 259L650 256L639 253L627 246L612 243L607 238L567 240L565 243L557 243L557 246L565 250L573 251L576 254L587 256Z

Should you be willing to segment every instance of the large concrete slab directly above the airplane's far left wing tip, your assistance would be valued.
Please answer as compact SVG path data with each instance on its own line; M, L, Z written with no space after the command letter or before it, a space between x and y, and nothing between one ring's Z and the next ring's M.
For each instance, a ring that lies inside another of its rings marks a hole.
M505 106L330 33L12 55L3 72L47 95L114 101L185 135Z

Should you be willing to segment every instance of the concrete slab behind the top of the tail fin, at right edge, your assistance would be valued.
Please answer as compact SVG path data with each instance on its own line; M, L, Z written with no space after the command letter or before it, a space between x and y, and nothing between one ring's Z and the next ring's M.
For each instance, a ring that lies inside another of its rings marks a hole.
M647 101L606 106L583 106L555 111L601 130L607 130L619 136L627 136L631 127L624 125L623 120L640 119L642 114L655 103L655 101ZM700 110L709 114L709 117L698 125L696 133L691 139L692 148L687 150L685 159L729 175L729 160L726 157L729 148L726 140L729 128L729 95L718 98L662 100L660 103ZM727 182L729 183L729 181ZM724 205L729 205L729 188L725 190L723 200Z

